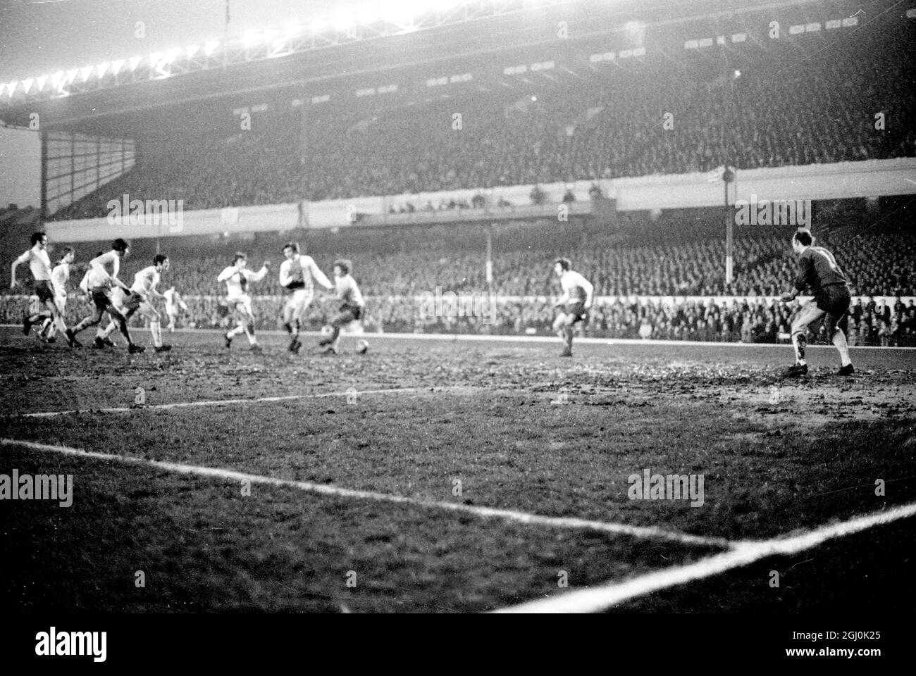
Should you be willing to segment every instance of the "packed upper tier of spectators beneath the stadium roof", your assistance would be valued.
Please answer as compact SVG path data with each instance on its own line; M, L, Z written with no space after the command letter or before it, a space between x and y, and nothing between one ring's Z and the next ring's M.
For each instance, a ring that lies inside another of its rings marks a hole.
M912 157L912 55L893 44L865 35L803 69L791 50L746 64L736 55L734 96L721 64L647 58L538 92L316 108L305 123L303 108L275 107L223 136L209 119L187 120L171 141L141 140L136 169L54 218L103 216L125 192L191 210L706 171L726 156L739 169Z

